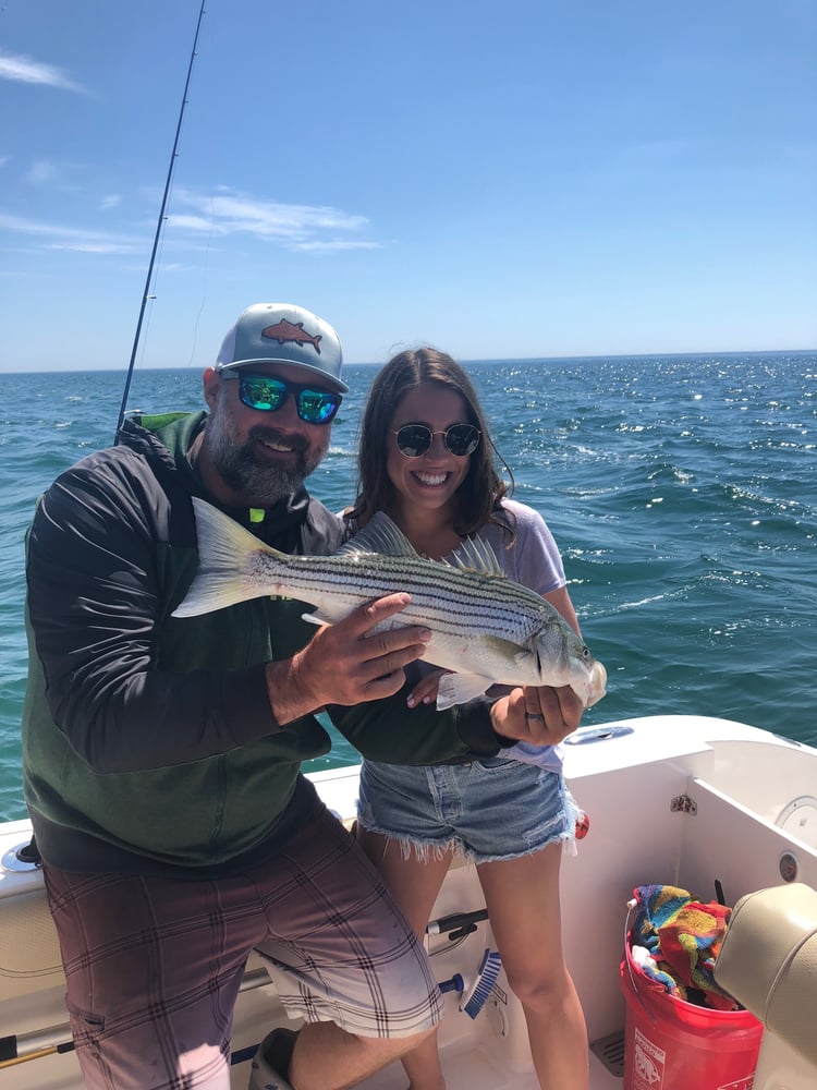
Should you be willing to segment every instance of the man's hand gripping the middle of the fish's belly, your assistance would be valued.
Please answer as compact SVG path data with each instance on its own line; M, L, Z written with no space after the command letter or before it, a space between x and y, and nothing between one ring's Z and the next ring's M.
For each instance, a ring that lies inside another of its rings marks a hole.
M369 633L410 602L407 594L370 602L338 625L318 629L292 658L268 663L267 689L278 723L326 704L359 704L398 692L405 681L403 667L423 656L431 633L418 625Z

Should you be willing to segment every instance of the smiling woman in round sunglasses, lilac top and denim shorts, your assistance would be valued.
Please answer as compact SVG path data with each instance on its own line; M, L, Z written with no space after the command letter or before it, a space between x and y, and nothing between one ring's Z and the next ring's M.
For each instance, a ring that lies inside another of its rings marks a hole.
M432 349L401 352L369 393L352 529L383 510L432 559L479 534L510 578L539 591L578 632L556 543L539 514L507 498L493 450L464 371ZM438 677L426 667L410 705L434 700ZM587 1034L564 965L559 907L562 843L573 837L576 809L557 748L582 707L572 690L549 687L526 689L525 706L544 717L553 746L515 746L498 758L439 767L364 761L357 829L419 936L454 852L476 863L539 1083L586 1090ZM455 816L444 809L451 792ZM436 1039L403 1064L410 1090L443 1090Z

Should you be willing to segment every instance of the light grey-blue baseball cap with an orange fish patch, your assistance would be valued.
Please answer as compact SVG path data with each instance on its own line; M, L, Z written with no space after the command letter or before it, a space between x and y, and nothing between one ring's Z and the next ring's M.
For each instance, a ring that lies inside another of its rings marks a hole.
M288 363L319 375L338 393L343 352L334 329L317 314L294 303L254 303L229 330L219 350L216 371L253 363Z

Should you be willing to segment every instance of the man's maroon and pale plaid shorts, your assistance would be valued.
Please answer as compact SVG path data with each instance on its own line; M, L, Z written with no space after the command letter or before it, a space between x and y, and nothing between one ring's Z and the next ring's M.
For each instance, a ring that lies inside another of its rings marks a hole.
M233 1007L255 947L293 1017L379 1038L439 1020L422 945L328 812L230 877L44 871L94 1090L229 1090Z

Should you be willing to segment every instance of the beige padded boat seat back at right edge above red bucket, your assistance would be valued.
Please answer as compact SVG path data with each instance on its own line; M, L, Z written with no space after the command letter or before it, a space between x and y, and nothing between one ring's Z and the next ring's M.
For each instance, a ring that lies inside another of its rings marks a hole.
M817 1065L817 892L793 883L742 897L715 979L768 1031Z

